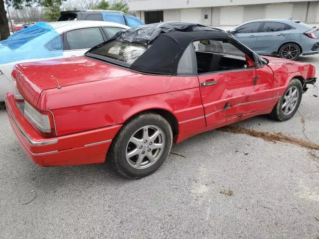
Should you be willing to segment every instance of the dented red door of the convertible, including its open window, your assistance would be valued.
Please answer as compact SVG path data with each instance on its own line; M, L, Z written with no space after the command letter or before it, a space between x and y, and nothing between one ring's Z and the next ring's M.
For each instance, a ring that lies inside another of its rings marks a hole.
M256 68L245 53L222 40L195 41L197 75L207 126L239 120L255 92Z

